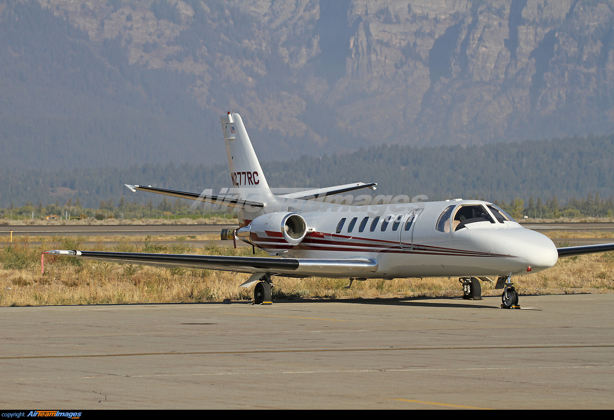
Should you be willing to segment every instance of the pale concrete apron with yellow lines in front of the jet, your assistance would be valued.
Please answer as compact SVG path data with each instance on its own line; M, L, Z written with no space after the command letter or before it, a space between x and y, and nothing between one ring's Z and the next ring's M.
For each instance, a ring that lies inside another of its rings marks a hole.
M614 408L614 295L1 307L10 408Z

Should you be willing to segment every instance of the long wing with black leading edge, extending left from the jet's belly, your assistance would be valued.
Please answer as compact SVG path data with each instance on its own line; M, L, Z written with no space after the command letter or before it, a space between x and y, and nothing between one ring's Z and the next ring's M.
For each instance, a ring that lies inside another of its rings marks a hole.
M99 252L53 250L50 255L72 256L82 260L111 261L159 267L190 267L246 273L274 273L292 277L352 277L360 272L375 272L376 260L313 260L306 258L266 258L255 256L154 254L138 252Z

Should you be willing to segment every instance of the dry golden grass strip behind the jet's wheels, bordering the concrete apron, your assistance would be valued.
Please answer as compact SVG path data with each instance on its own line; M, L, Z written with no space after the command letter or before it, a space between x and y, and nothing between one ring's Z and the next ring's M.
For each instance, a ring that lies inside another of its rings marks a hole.
M548 233L557 237L600 237L604 232ZM593 235L593 236L591 236ZM178 240L164 245L156 240ZM198 237L20 237L0 248L0 306L37 306L109 303L188 303L204 301L251 301L252 288L239 288L248 275L201 269L147 267L129 264L82 261L76 258L45 256L41 274L41 253L52 249L114 250L118 252L192 253L207 255L252 255L250 247L234 249L209 245L195 248ZM95 241L84 246L85 240ZM114 241L114 245L106 242ZM136 242L135 242L136 241ZM185 241L185 242L184 242ZM36 242L36 243L34 243ZM231 242L229 242L231 244ZM263 252L256 255L266 256ZM561 258L553 268L515 277L520 295L561 293L612 293L614 252ZM289 279L274 277L273 299L292 298L392 298L411 296L461 296L457 279L425 278L367 280ZM483 296L499 296L494 283L482 284Z

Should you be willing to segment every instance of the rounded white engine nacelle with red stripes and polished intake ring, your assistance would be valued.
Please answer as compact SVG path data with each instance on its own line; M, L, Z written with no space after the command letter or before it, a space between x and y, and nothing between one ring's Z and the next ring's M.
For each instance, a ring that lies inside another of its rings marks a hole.
M307 233L307 223L298 213L278 212L258 216L249 226L237 231L248 236L258 248L268 252L289 250L300 244Z

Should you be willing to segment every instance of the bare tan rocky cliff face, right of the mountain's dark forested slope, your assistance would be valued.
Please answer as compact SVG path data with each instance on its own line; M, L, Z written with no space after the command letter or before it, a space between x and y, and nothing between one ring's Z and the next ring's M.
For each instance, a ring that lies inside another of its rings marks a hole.
M297 154L614 132L613 1L39 2Z

